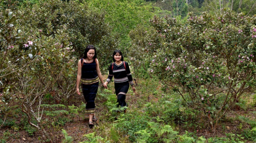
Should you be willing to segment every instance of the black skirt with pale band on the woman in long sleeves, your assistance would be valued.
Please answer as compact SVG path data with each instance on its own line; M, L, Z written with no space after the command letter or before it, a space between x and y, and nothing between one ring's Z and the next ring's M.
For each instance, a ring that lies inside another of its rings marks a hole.
M124 107L127 106L127 103L125 102L126 93L129 89L129 82L121 82L121 83L115 83L115 95L117 95L117 102L118 107Z

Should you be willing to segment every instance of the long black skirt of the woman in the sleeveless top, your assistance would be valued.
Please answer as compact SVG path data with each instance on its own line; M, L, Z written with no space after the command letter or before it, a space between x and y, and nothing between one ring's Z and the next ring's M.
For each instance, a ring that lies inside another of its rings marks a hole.
M86 114L93 115L95 112L95 98L97 90L99 87L99 82L93 83L91 85L82 84L83 96L86 100Z

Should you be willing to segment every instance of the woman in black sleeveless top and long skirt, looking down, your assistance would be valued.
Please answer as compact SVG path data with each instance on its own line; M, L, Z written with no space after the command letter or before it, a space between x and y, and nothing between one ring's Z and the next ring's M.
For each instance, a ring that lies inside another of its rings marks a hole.
M76 92L79 91L81 81L84 99L86 100L86 115L89 115L89 126L94 126L93 121L97 121L95 111L95 98L99 87L99 79L103 83L103 78L100 72L99 61L96 59L96 49L93 45L88 45L84 51L83 59L78 61ZM103 83L107 88L107 85Z

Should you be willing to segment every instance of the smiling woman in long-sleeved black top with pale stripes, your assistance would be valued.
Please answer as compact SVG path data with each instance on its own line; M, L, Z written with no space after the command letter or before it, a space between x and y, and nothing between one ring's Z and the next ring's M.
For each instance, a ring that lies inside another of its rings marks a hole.
M114 50L113 61L109 66L109 74L105 84L107 85L114 76L114 87L118 106L124 107L127 106L125 98L129 85L131 85L133 92L135 92L135 87L133 86L129 64L124 62L124 57L120 50Z

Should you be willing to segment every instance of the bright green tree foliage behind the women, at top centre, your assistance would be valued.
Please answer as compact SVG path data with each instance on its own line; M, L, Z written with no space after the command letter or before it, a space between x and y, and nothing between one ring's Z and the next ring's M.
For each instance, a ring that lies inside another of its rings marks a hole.
M136 1L88 1L89 7L100 12L105 11L105 21L111 24L113 31L121 38L119 49L125 51L130 46L127 36L138 24L145 24L153 16L153 6L142 0ZM125 54L125 53L124 53Z

